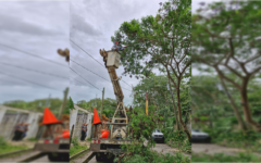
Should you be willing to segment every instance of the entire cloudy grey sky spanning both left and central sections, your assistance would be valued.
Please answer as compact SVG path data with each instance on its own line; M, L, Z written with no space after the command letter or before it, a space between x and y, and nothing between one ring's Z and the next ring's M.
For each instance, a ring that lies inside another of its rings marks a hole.
M111 49L111 36L123 22L156 15L159 2L164 1L1 0L0 103L11 100L32 101L49 96L62 99L67 86L74 102L101 98L102 88L105 89L104 98L115 99L99 49ZM192 1L192 12L199 8L199 2ZM70 42L70 39L102 65ZM71 68L85 79L70 71L69 63L57 53L59 48L69 48L71 59L92 73L73 62L70 63ZM116 73L121 76L123 67L117 68ZM139 79L123 76L120 82L124 102L130 104L132 87L123 80L136 86Z

